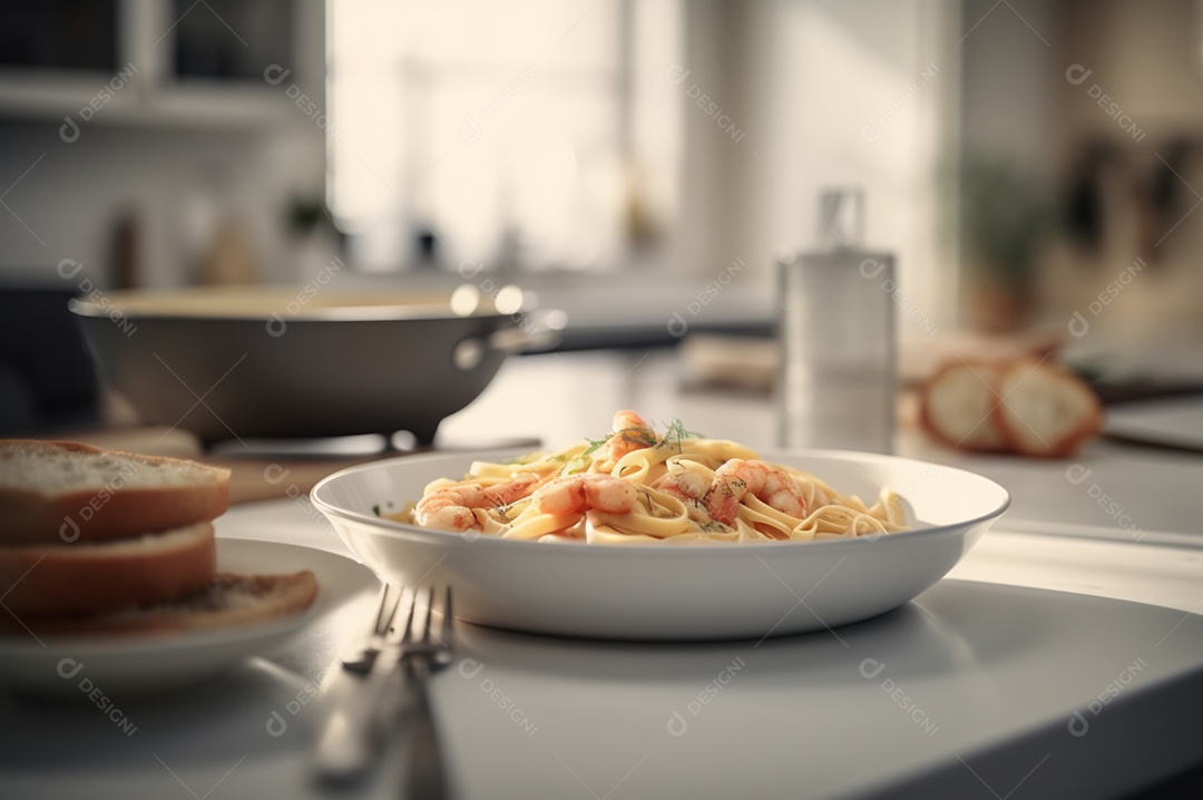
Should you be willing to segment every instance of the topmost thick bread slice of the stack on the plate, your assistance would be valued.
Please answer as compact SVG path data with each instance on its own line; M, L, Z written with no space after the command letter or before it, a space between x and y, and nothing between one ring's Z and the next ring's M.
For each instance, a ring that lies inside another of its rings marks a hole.
M230 470L76 442L0 440L0 545L94 543L207 522Z

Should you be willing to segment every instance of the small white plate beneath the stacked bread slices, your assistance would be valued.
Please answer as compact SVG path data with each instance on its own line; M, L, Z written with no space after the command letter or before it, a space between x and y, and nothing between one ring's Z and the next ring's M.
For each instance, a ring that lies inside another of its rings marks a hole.
M309 569L318 577L318 598L303 614L286 620L166 638L0 639L0 686L61 693L81 691L82 685L107 695L194 683L271 650L379 586L371 570L322 550L248 539L218 538L217 543L218 569L248 574Z

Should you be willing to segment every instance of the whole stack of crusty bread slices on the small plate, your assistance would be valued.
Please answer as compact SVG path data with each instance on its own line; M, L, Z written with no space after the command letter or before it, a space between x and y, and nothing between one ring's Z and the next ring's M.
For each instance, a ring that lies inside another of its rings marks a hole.
M318 581L217 573L230 472L73 442L0 440L0 633L168 634L266 622Z

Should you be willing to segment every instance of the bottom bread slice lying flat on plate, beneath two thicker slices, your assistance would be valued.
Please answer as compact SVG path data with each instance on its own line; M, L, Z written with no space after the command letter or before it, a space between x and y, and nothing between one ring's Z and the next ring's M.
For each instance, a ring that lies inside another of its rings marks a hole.
M309 570L282 575L218 573L200 591L177 600L81 617L40 617L28 630L42 636L161 635L249 626L284 618L308 609L318 597ZM2 626L0 626L2 629ZM8 633L18 633L8 627Z

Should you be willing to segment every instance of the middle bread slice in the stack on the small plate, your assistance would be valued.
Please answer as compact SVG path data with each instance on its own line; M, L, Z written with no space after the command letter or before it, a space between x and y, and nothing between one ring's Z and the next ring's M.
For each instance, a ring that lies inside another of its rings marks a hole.
M0 547L0 604L20 622L173 600L213 580L213 525L101 544Z

